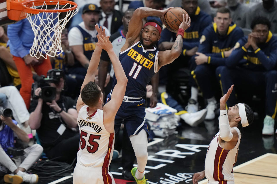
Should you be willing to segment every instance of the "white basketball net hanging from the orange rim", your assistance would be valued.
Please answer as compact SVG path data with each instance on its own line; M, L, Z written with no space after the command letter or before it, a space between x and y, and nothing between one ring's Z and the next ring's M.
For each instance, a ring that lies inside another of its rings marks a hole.
M40 9L43 10L49 8L47 6L48 5L44 1ZM73 6L74 5L70 3L59 5L58 2L54 9L66 9ZM37 9L34 4L30 8ZM46 13L44 11L41 11L39 14L25 13L26 18L31 23L33 32L35 34L33 46L30 49L30 55L36 57L37 59L40 57L44 57L46 59L47 55L54 57L60 52L63 52L61 47L62 30L65 28L65 25L70 20L70 18L76 15L77 12L78 9L76 8L67 12L57 13ZM64 18L59 17L61 13L63 13Z

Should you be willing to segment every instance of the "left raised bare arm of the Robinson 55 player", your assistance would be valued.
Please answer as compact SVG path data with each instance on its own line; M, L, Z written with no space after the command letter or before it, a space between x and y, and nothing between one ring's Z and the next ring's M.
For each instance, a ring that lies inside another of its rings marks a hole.
M98 32L98 35L104 35L106 37L105 29L102 30L102 27L100 26L100 28L99 28L98 25L95 25L95 28ZM86 74L83 84L81 86L81 91L88 82L90 82L90 81L94 82L94 78L95 78L95 75L97 72L97 67L100 62L101 51L102 51L102 48L99 47L99 45L97 44L93 51L93 54L91 56L91 59L89 62L89 67L87 68L87 74ZM77 100L77 104L76 104L76 109L77 109L78 113L79 113L79 110L81 109L81 107L84 105L85 104L82 101L81 94L80 94L78 97L78 100Z

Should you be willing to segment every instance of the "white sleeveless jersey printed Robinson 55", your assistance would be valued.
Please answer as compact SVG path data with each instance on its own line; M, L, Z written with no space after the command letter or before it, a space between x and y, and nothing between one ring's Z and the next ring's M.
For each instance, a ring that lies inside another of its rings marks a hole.
M106 131L103 124L103 110L88 115L88 106L83 106L78 114L80 147L77 163L85 167L102 168L108 172L113 157L114 133Z

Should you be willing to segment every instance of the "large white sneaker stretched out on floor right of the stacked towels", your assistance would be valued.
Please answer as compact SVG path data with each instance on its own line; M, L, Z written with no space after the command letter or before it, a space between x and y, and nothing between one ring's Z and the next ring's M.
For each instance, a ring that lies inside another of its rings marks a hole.
M203 122L207 114L207 109L202 109L198 112L181 114L180 117L190 126L196 127Z

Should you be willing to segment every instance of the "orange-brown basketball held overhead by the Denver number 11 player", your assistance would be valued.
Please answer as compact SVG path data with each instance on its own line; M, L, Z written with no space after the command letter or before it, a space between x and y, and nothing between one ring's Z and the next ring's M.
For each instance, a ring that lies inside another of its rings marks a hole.
M164 15L164 24L171 32L177 32L180 24L183 22L183 14L188 14L182 8L171 8Z

